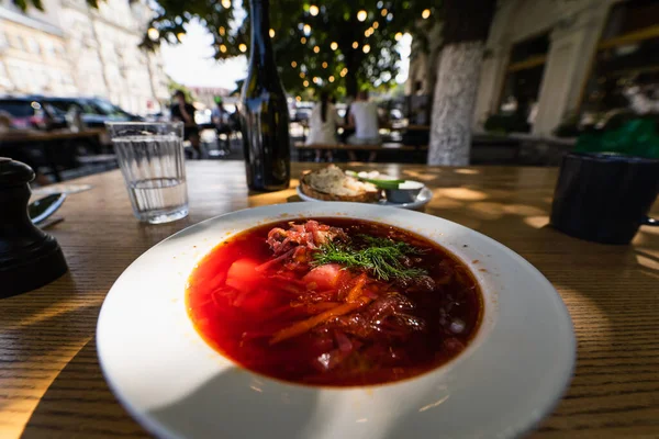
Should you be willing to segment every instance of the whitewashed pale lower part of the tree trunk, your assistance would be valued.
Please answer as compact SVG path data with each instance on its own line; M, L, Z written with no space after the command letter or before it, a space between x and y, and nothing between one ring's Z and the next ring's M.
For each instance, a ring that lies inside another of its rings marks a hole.
M444 46L433 102L428 165L469 165L482 42Z

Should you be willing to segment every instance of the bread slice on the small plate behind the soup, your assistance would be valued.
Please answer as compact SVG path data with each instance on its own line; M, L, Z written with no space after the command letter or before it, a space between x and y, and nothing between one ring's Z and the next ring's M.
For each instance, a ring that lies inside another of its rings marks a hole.
M373 184L346 176L334 165L302 175L300 190L305 195L323 201L372 203L380 198L380 190Z

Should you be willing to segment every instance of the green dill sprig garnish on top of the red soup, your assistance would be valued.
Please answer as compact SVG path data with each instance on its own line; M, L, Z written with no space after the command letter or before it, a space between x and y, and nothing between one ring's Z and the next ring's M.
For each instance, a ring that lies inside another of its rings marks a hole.
M420 255L422 250L406 243L388 238L373 238L367 235L360 237L366 243L364 248L355 248L345 243L325 244L314 254L313 264L339 263L345 268L362 269L386 282L427 274L425 270L405 267L401 261L407 255Z

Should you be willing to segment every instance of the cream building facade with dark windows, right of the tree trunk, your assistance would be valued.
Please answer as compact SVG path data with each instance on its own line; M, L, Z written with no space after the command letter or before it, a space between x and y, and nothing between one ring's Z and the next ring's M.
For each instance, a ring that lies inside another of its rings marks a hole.
M633 85L659 99L658 47L657 0L500 0L474 130L490 115L517 111L526 131L550 135L573 115L625 106L623 89ZM415 89L428 89L424 77L411 71Z

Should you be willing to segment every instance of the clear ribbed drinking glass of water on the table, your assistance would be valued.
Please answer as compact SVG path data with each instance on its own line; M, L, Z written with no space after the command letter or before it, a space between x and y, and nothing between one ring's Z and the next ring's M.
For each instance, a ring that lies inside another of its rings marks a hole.
M133 213L150 224L188 216L182 122L107 122Z

